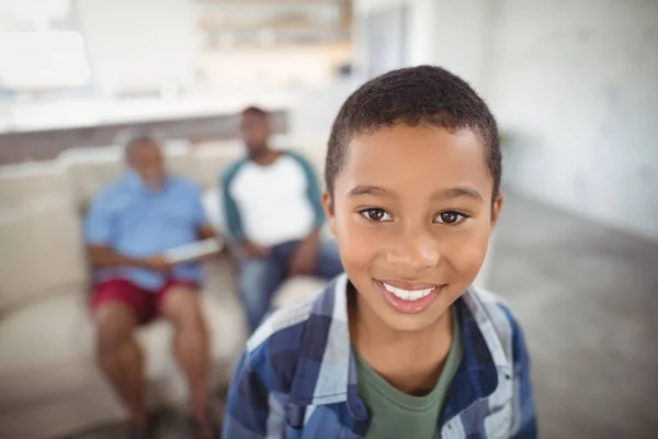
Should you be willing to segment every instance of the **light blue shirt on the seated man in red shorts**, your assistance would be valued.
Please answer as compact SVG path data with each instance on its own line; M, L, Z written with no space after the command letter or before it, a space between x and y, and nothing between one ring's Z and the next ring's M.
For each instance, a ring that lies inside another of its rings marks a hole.
M198 239L198 228L208 224L201 195L201 189L186 179L167 177L160 190L152 190L128 171L92 201L84 224L86 241L110 246L133 258L159 256L193 243ZM195 262L175 266L170 275L197 283L203 280L202 268ZM161 273L135 267L97 270L94 278L128 279L150 291L166 282Z

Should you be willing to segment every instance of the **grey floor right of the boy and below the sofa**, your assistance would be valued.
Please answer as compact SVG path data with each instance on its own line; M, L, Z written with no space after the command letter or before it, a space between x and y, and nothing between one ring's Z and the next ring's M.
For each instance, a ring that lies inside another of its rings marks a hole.
M658 244L508 194L494 251L490 288L525 329L541 437L658 437ZM180 415L161 419L159 438L185 437Z

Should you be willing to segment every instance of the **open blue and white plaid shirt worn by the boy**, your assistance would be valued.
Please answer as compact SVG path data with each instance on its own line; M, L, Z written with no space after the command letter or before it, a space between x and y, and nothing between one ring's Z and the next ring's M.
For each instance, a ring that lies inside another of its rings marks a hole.
M247 342L228 398L225 439L363 438L348 328L347 275L275 312ZM438 420L441 437L535 438L530 361L510 309L469 289L456 302L464 359Z

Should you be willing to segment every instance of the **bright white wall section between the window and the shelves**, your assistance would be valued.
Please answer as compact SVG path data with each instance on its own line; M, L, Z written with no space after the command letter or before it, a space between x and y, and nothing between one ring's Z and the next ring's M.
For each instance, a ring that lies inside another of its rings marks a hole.
M76 10L102 94L194 82L200 52L195 2L77 0Z

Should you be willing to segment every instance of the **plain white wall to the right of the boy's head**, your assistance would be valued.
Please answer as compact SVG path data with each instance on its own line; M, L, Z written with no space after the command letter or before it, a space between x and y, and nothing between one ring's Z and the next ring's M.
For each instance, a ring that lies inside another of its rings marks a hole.
M510 185L658 239L658 1L506 1L496 41Z

